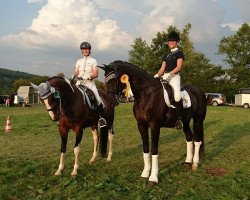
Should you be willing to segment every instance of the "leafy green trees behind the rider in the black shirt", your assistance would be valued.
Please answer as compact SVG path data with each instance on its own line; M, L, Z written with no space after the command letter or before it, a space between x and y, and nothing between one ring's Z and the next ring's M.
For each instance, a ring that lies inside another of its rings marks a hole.
M182 30L170 26L157 32L150 44L141 37L136 38L129 51L129 62L154 75L161 66L162 56L169 51L166 41L173 30L180 34L179 47L185 55L182 84L194 84L204 92L223 93L228 102L234 101L239 88L250 87L250 26L247 23L243 23L234 35L220 40L217 53L225 57L224 68L212 64L203 53L195 50L189 38L191 24Z

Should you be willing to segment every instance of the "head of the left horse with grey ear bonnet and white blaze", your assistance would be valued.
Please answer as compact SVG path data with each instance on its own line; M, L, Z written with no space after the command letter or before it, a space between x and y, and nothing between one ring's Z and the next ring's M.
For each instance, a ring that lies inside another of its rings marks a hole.
M40 85L35 85L30 83L33 88L38 90L39 97L41 102L43 102L49 112L49 116L51 120L58 121L62 111L62 88L65 88L63 85L60 87L59 84L56 84L60 81L65 81L65 83L70 85L69 80L60 78L60 77L52 77L48 79L48 81L41 83ZM66 84L66 85L67 85ZM53 86L52 86L53 85ZM72 91L74 92L73 87L70 85ZM65 96L65 95L64 95Z

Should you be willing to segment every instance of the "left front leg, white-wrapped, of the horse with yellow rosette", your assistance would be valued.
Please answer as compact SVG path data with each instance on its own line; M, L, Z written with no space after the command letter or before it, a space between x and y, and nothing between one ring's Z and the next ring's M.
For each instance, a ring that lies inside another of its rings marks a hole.
M149 154L149 137L148 137L148 126L143 123L137 123L138 129L141 134L142 143L143 143L143 161L144 161L144 169L141 173L141 177L148 178L151 163L150 163L150 154Z

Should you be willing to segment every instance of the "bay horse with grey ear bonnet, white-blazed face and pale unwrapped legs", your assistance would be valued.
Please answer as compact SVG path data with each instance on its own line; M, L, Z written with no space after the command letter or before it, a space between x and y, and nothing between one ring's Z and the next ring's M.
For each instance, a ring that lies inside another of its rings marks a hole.
M93 163L97 157L99 133L98 120L99 114L96 110L89 108L83 93L69 80L61 77L49 78L46 83L39 86L31 84L39 91L41 101L46 105L50 118L53 121L59 121L59 132L61 135L61 156L60 164L55 175L61 175L64 169L64 156L66 153L68 133L72 129L76 133L74 146L75 164L71 172L72 176L77 175L79 167L79 144L82 140L83 129L91 127L94 151L89 163ZM89 96L94 100L94 94L88 89ZM104 91L99 91L101 98L105 104L105 119L107 126L100 128L100 151L102 156L106 155L107 143L109 140L109 153L107 161L111 161L112 157L112 138L113 138L113 122L114 122L114 96Z

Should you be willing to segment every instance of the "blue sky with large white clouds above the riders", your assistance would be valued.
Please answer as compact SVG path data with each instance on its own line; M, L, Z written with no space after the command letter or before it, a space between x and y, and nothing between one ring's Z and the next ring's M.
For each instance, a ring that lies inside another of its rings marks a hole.
M127 61L136 37L150 44L188 23L195 49L226 66L219 41L250 24L249 9L250 0L0 0L0 68L70 78L83 41L98 65Z

